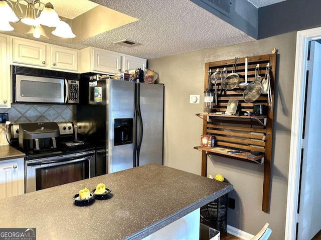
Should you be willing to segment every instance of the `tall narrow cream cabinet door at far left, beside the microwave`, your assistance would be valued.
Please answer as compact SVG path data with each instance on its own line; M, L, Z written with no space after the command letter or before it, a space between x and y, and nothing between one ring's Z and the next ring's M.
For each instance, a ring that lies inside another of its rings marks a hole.
M7 54L7 37L0 36L0 107L11 106L10 67Z

